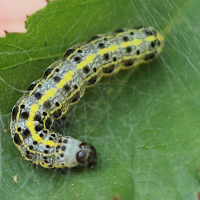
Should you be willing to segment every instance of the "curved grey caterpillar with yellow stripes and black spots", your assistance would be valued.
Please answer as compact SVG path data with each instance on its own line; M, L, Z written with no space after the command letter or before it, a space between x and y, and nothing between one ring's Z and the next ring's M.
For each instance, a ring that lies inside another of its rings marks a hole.
M157 30L139 26L96 35L69 48L30 84L12 109L11 136L22 156L45 168L94 166L94 146L60 135L54 122L83 96L86 87L102 76L152 61L163 45L164 37Z

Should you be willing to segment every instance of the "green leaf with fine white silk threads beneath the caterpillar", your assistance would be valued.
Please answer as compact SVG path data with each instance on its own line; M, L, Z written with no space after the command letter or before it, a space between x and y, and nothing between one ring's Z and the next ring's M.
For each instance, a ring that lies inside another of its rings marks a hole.
M0 38L1 199L198 199L199 7L199 0L57 0L28 17L26 33ZM23 95L15 88L26 90L70 46L141 24L165 35L161 57L87 89L61 130L92 143L98 164L65 175L34 170L10 137L11 110Z

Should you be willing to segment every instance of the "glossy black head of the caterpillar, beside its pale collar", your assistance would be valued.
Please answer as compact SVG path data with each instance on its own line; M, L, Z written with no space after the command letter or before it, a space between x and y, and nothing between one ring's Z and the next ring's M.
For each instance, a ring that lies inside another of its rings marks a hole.
M96 149L89 143L83 142L79 145L81 150L76 154L78 163L85 167L92 167L97 163Z

